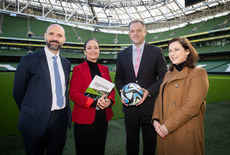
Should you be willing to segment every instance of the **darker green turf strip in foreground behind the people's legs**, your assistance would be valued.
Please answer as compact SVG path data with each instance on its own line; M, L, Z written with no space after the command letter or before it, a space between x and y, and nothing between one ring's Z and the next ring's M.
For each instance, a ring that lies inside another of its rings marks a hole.
M228 155L230 153L230 100L207 104L204 123L204 152L206 155ZM63 155L74 155L73 128L68 130ZM105 155L125 155L124 119L109 122ZM140 143L140 146L141 143ZM20 134L0 137L1 155L25 155ZM142 154L142 147L140 153Z

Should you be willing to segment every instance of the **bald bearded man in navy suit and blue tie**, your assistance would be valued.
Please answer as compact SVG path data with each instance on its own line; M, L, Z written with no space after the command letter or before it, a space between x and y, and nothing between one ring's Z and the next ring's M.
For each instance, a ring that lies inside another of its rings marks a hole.
M50 25L44 37L43 50L20 60L13 96L20 110L18 129L26 153L61 155L67 126L71 126L68 97L71 64L59 55L66 40L64 29L58 24Z

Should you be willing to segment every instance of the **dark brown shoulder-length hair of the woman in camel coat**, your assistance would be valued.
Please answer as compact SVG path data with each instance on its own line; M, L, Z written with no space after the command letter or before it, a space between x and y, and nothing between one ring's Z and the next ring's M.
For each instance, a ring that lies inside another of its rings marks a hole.
M189 40L185 37L177 37L177 38L171 39L168 43L168 47L171 43L176 42L176 41L179 42L185 50L187 49L189 50L189 54L188 54L188 57L184 65L190 68L194 68L196 66L196 62L199 60L199 55L197 54L196 50L194 49L192 44L189 42ZM173 71L173 69L174 69L174 65L170 61L169 70Z

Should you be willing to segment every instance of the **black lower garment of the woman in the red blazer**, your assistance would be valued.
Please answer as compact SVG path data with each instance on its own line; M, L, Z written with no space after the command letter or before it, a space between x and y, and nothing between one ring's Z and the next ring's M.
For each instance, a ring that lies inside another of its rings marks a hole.
M104 155L107 129L108 122L105 112L99 115L96 114L93 124L74 123L76 154Z

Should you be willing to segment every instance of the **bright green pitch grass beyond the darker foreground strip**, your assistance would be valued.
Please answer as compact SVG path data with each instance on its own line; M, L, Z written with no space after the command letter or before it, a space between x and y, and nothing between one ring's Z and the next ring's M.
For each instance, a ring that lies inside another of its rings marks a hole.
M114 82L115 73L110 73ZM12 97L14 72L0 72L0 137L18 134L17 121L19 110ZM209 92L207 102L218 102L230 100L230 76L229 75L209 75ZM123 118L122 104L117 90L115 96L115 105L113 106L113 119ZM71 108L74 103L70 103Z

